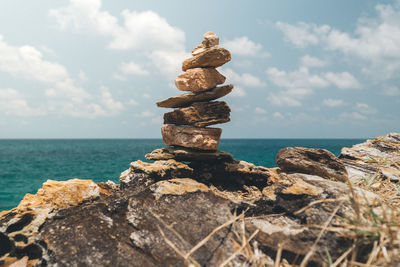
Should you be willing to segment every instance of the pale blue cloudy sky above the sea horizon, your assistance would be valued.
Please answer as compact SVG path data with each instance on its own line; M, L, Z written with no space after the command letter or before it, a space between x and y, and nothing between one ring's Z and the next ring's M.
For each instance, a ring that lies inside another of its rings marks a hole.
M0 2L0 138L161 138L155 102L213 31L222 138L400 132L400 0Z

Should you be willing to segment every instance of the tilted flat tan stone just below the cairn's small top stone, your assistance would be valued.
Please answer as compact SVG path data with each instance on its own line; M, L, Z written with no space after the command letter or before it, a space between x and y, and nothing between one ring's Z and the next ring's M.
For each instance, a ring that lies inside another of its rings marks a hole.
M186 59L182 63L182 70L193 68L216 68L231 60L231 53L225 48L213 47L203 53Z

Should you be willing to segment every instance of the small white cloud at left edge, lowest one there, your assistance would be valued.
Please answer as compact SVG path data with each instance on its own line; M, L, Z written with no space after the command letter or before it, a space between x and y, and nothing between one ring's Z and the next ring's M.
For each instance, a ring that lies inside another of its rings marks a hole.
M30 107L24 96L17 90L11 88L0 89L0 113L18 117L31 117L45 114L43 110Z

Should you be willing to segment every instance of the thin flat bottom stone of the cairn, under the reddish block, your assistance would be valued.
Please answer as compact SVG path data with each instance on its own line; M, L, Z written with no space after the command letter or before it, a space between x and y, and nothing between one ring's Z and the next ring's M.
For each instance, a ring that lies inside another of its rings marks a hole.
M164 147L154 150L151 153L146 154L148 160L169 160L174 159L177 161L232 161L233 156L230 153L224 151L199 151L190 148L178 148L178 147Z

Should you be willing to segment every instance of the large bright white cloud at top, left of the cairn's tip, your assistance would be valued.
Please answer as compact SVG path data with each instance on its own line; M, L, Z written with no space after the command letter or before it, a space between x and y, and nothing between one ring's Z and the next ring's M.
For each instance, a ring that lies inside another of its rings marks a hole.
M123 10L120 25L118 18L101 10L101 0L70 0L68 6L49 14L61 28L93 30L110 37L112 49L141 51L168 77L176 74L182 59L189 55L185 53L185 33L153 11Z

